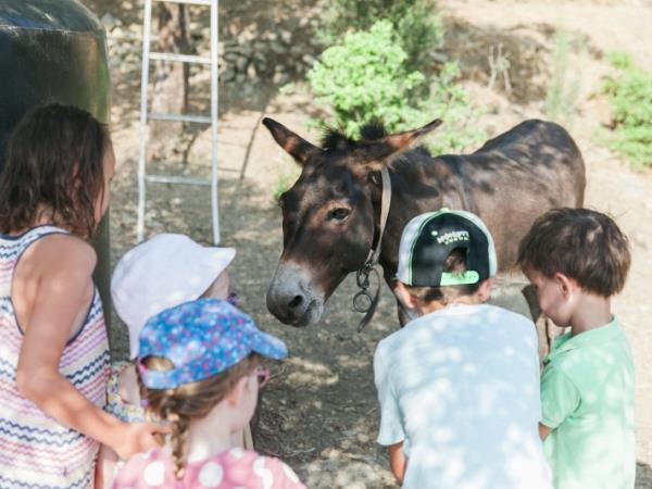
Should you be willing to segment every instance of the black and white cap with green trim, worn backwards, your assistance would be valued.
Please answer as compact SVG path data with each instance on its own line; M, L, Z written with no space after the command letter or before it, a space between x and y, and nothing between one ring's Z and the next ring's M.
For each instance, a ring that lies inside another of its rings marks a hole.
M466 272L443 271L455 249L466 253ZM496 247L487 226L475 214L443 208L414 217L403 229L397 279L414 287L471 285L493 277Z

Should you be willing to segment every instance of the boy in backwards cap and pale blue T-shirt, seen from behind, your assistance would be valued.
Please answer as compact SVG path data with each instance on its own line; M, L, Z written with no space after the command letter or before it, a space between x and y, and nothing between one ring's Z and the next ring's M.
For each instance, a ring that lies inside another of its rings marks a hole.
M442 209L403 230L397 294L418 317L378 343L378 443L404 488L551 487L539 439L534 324L487 304L496 275L478 216Z

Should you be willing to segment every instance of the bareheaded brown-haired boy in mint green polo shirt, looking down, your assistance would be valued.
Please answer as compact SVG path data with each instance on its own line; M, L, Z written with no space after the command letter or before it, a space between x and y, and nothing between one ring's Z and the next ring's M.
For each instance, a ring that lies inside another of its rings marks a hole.
M606 215L557 209L521 242L518 263L557 326L543 360L539 432L556 489L635 485L634 363L611 313L630 264L627 238Z

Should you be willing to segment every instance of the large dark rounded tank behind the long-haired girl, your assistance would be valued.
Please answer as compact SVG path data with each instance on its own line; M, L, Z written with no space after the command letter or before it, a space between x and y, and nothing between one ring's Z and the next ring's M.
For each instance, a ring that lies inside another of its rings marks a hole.
M0 1L0 172L7 139L33 106L60 102L109 123L106 35L75 0ZM110 317L109 214L93 239L96 283Z

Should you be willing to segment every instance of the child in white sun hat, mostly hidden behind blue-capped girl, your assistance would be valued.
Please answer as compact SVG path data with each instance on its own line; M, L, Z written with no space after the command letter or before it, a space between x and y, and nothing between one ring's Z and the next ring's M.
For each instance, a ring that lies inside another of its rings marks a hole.
M229 293L228 265L234 248L203 247L188 236L160 234L129 250L111 278L111 297L129 333L129 359L138 356L138 337L147 321L181 303L215 298L236 302ZM137 375L131 362L112 365L105 410L126 422L145 418ZM249 426L233 439L234 446L253 449ZM111 487L116 455L102 448L97 487Z

